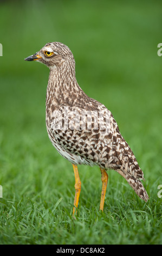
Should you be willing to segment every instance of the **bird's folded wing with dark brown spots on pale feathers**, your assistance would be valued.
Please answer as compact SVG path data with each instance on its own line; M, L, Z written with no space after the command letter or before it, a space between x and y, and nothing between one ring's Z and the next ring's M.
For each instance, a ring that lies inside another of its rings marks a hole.
M90 99L90 98L89 98ZM50 119L56 142L71 154L93 161L105 169L122 170L143 179L135 156L121 136L112 113L100 102L59 106Z

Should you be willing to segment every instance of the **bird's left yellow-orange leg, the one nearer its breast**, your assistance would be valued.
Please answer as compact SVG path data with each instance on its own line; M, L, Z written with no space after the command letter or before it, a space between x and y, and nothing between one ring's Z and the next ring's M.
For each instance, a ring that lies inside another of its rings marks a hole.
M77 170L77 166L73 164L74 175L75 175L75 198L74 198L74 207L73 207L73 216L75 213L75 209L77 208L79 202L79 196L81 191L81 181L79 178L79 172Z

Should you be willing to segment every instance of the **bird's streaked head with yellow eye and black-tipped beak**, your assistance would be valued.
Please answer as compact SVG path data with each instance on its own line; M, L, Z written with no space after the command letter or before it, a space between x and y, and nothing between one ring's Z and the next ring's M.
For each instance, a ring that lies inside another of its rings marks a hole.
M68 46L61 42L48 42L40 51L25 58L25 60L36 60L47 65L50 69L62 65L64 62L75 63L73 53Z

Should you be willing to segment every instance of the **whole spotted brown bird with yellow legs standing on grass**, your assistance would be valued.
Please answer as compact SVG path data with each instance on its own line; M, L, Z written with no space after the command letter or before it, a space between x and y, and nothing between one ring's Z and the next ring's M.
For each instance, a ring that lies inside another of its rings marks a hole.
M108 182L108 170L123 176L135 193L145 202L149 199L142 185L144 173L121 136L111 111L89 97L76 80L75 59L62 42L48 42L40 51L25 58L45 64L50 72L46 93L46 126L55 149L73 165L75 197L73 216L77 214L81 180L77 166L98 166L103 211Z

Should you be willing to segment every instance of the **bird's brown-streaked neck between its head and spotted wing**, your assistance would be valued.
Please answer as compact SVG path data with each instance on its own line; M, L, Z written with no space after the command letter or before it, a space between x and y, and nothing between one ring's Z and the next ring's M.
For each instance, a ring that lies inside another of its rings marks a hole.
M71 106L78 94L83 93L77 84L75 77L75 64L65 62L60 66L50 69L47 94L46 110L56 109L60 105Z

